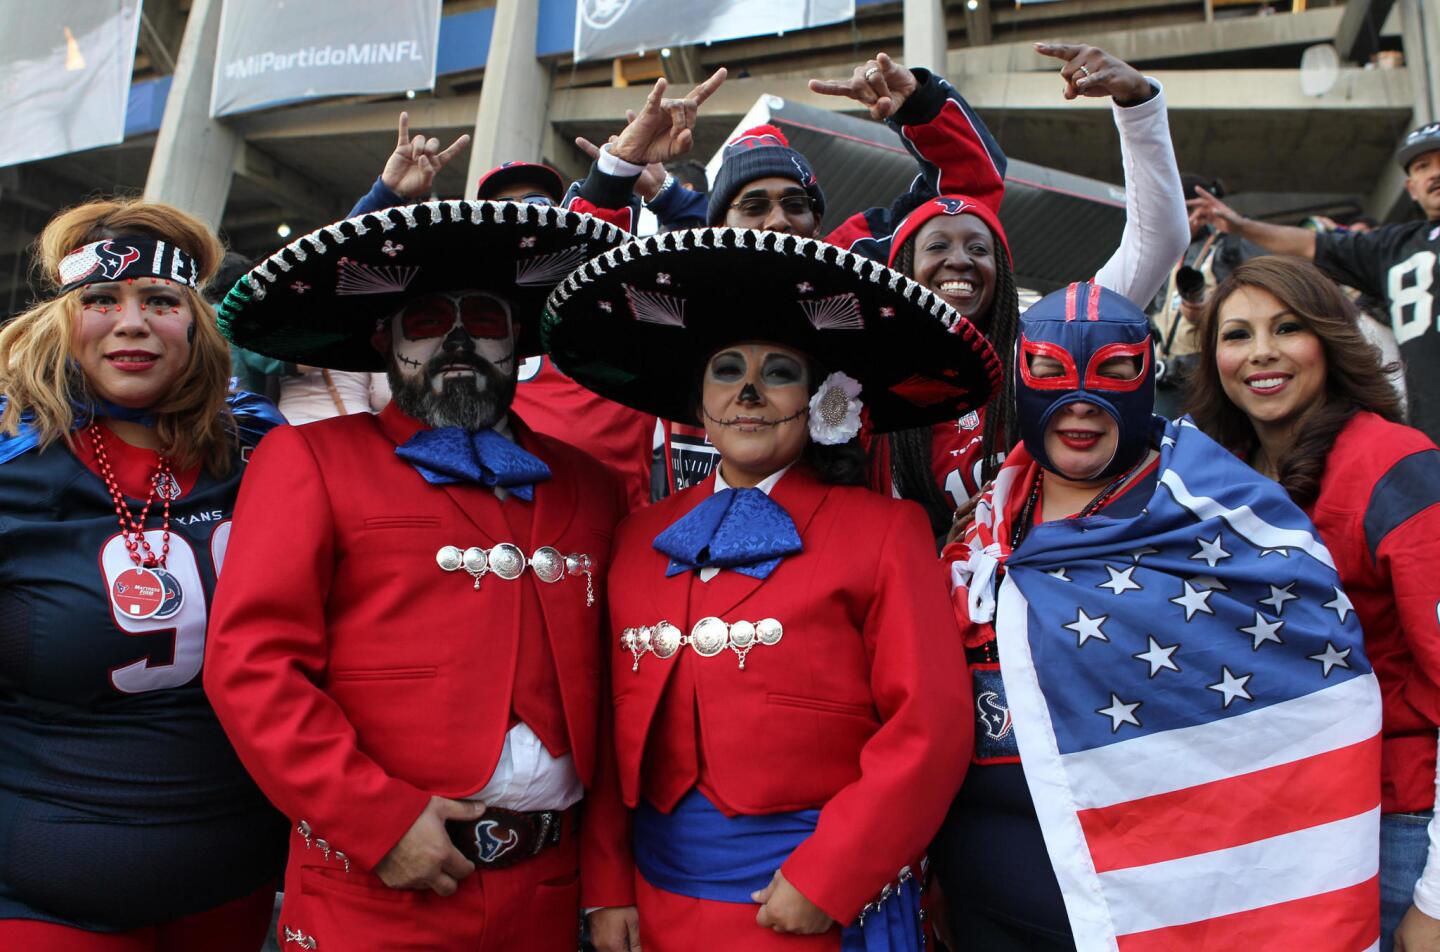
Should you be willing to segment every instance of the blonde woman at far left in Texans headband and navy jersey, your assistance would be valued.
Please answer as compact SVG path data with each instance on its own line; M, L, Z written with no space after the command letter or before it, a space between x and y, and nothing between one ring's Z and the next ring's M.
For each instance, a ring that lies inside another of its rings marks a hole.
M200 687L279 422L228 406L196 291L222 251L166 205L69 209L39 241L53 294L0 331L0 948L253 952L269 923L287 824Z

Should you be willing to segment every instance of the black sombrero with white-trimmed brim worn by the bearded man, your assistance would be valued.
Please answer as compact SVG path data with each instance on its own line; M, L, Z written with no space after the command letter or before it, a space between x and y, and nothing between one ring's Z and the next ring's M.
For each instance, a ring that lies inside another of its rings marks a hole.
M360 215L298 238L220 302L235 344L291 363L383 370L377 321L435 291L510 301L520 353L540 353L546 295L626 233L590 215L521 202L426 202Z

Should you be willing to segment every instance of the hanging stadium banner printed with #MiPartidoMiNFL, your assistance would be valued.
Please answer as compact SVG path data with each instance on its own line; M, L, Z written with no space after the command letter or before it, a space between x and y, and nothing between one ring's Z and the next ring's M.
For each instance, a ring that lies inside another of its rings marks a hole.
M435 85L441 0L225 0L210 115Z

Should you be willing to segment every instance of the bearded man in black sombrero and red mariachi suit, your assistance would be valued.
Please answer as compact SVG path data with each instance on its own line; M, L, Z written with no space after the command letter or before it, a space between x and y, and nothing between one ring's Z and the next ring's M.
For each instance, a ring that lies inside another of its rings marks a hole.
M389 209L222 304L238 344L395 393L256 449L216 596L206 690L292 821L282 948L576 948L621 494L510 403L544 295L619 239L521 203Z

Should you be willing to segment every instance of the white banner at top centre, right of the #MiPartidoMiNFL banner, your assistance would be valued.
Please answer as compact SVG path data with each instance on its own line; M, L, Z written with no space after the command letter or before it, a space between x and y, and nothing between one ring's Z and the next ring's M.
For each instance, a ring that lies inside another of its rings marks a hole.
M575 0L575 60L805 30L854 17L855 0Z

